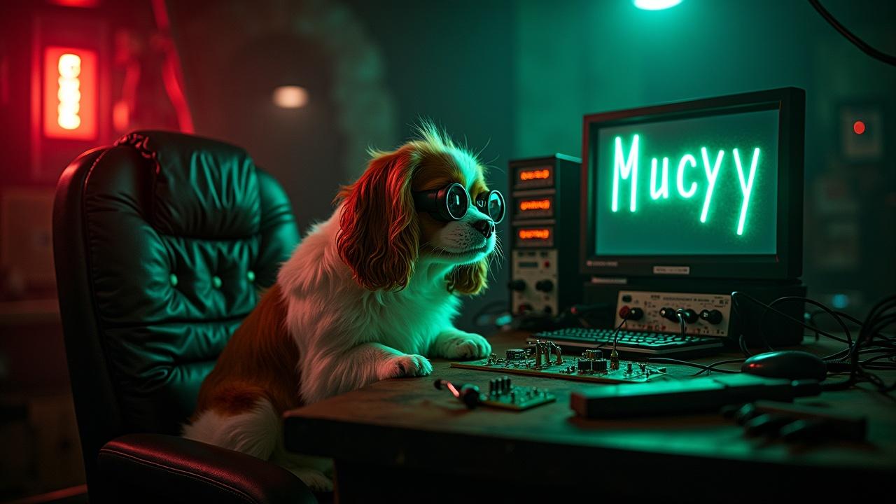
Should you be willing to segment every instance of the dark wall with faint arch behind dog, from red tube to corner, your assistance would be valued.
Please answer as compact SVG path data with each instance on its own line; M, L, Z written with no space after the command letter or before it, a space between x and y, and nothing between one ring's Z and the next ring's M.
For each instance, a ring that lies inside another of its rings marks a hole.
M244 146L279 178L303 229L330 216L339 185L363 171L366 147L398 146L420 117L482 150L490 185L506 190L513 3L170 4L197 132ZM284 83L308 88L306 108L271 104ZM503 304L501 262L490 282L467 300L461 326L472 330L479 308Z

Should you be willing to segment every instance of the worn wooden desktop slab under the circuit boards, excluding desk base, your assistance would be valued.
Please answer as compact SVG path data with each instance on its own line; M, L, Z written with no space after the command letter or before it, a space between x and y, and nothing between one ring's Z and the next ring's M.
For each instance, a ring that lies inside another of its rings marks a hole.
M522 333L503 333L490 341L495 352L502 354L506 348L519 347L524 338ZM831 348L837 347L804 345L805 350L818 353ZM738 355L695 361L726 357ZM669 366L669 373L677 377L695 370ZM826 443L797 449L745 438L741 428L718 414L599 421L575 417L569 408L570 393L582 387L606 387L603 385L514 375L518 385L547 387L557 395L556 403L525 412L468 410L447 392L433 387L434 378L447 378L481 388L494 377L495 373L452 369L448 361L433 361L431 377L384 380L288 412L284 428L287 448L357 464L429 471L462 467L463 471L487 471L511 480L531 477L533 465L541 465L539 474L558 483L582 482L595 471L617 472L626 466L637 467L638 472L699 473L701 479L712 474L730 476L729 471L745 467L758 469L761 475L767 473L762 477L779 474L782 467L788 469L788 477L799 477L798 473L841 477L853 471L896 474L896 400L870 389L826 392L798 400L800 404L865 413L869 417L867 443ZM892 378L892 373L886 377L888 381Z

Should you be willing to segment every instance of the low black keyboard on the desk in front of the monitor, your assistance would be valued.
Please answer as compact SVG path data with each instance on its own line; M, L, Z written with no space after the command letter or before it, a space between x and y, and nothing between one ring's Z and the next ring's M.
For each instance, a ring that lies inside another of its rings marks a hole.
M526 341L550 340L564 346L582 348L613 348L614 329L594 329L567 327L555 331L542 331L531 335ZM654 355L670 353L691 353L721 349L722 338L698 335L670 335L665 333L642 333L619 331L616 352L648 353Z

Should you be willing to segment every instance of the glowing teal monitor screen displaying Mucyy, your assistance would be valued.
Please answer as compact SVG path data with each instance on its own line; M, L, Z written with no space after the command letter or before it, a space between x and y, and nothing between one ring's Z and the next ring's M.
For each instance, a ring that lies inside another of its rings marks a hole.
M602 126L598 256L774 255L778 110Z

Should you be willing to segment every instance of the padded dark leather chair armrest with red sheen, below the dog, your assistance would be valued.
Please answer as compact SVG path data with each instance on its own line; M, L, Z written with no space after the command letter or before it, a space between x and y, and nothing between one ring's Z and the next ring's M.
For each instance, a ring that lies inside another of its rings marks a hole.
M99 450L99 472L125 501L316 502L279 465L226 448L164 434L127 434Z

